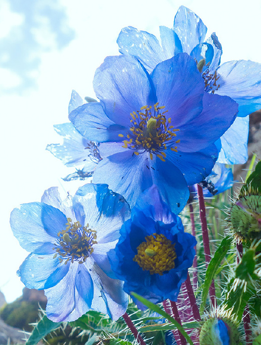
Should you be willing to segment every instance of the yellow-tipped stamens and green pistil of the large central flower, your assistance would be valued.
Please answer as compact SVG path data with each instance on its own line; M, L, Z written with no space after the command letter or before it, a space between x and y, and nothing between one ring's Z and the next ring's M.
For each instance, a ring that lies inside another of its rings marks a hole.
M127 134L127 139L123 140L125 149L134 150L135 155L140 153L149 152L150 159L152 160L153 154L165 162L166 154L164 150L170 148L170 150L178 152L175 143L179 143L175 137L175 132L179 129L174 128L171 125L171 118L166 119L164 115L167 110L161 113L161 110L165 107L158 107L158 103L153 106L143 106L140 111L130 113L131 126L130 132ZM119 134L119 137L125 137L123 134Z

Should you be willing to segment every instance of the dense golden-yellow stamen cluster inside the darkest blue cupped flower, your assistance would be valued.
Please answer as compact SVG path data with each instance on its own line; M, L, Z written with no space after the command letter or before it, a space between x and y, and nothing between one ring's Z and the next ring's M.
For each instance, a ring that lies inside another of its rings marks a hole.
M144 271L163 275L165 271L175 267L174 261L177 258L175 243L165 235L157 233L146 236L145 239L146 241L137 248L138 254L133 259Z

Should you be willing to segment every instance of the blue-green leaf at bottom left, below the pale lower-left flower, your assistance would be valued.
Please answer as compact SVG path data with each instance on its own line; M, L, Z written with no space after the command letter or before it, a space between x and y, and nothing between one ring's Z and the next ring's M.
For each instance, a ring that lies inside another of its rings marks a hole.
M61 323L62 322L53 322L49 320L46 315L44 315L32 330L32 333L26 341L25 345L37 344L47 334L58 328Z

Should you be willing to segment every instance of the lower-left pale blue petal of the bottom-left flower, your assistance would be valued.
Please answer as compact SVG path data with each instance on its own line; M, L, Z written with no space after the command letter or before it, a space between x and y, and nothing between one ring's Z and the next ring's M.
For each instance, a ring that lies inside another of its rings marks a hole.
M19 275L24 285L30 289L46 289L56 285L67 274L70 263L60 263L58 257L30 254L22 263Z

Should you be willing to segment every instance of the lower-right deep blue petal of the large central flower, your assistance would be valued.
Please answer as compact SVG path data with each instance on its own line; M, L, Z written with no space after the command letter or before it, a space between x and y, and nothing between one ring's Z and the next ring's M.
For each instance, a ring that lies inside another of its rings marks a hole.
M178 167L184 174L188 185L204 180L210 173L218 158L218 150L214 144L198 152L185 153L166 152L166 161Z

